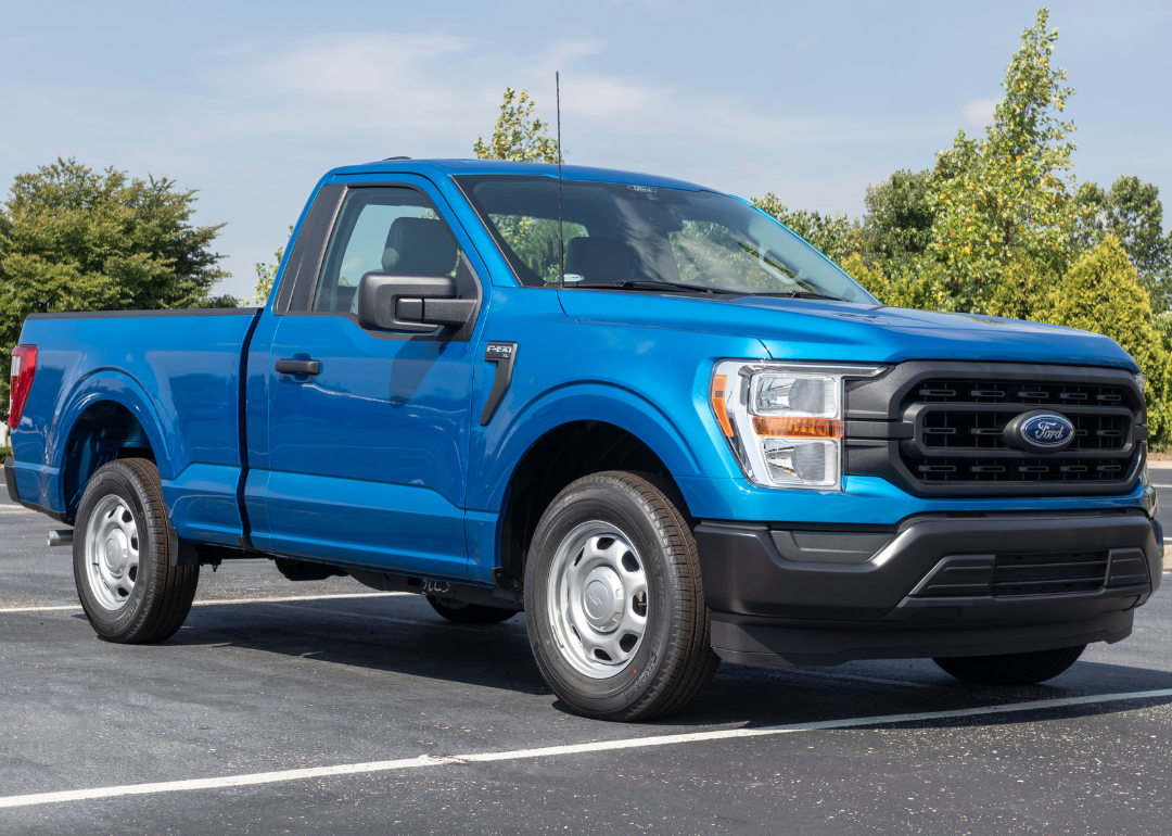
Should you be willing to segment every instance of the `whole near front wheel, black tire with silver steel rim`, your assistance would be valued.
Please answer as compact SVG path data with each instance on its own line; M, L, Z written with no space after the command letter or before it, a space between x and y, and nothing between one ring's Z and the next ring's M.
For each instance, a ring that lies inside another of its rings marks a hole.
M530 546L525 612L546 684L587 716L680 711L720 664L691 530L635 474L585 476L553 499Z

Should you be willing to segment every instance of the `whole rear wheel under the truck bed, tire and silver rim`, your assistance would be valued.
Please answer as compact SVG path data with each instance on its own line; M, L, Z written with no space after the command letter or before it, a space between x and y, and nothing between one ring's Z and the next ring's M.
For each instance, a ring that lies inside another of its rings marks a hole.
M82 494L74 531L77 597L97 634L122 644L172 637L183 626L199 566L172 566L155 463L103 464Z

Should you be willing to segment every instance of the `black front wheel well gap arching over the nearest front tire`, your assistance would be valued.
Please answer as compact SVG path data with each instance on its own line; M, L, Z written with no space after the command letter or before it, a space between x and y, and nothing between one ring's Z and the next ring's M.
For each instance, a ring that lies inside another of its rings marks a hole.
M553 497L577 478L600 470L650 475L688 516L675 480L646 443L602 421L563 424L538 439L522 456L509 482L500 526L502 585L524 582L525 556L537 524Z

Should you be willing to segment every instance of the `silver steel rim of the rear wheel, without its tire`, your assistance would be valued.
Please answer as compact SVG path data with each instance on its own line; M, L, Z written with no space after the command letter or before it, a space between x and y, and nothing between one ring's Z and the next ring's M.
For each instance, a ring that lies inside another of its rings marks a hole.
M90 514L86 571L103 609L116 612L130 600L138 580L138 524L121 496L102 497Z

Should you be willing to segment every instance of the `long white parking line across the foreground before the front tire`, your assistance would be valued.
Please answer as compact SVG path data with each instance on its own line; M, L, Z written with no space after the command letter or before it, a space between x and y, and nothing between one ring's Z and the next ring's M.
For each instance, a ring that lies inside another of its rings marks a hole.
M157 783L134 783L122 787L96 787L93 789L71 789L62 793L33 793L29 795L9 795L0 797L0 808L34 807L39 804L57 804L64 801L89 801L93 798L113 798L125 795L154 795L156 793L180 793L193 789L222 789L225 787L251 787L260 783L278 783L282 781L304 781L315 777L333 777L335 775L357 775L366 773L389 772L393 769L418 769L420 767L442 767L464 763L492 763L496 761L517 761L529 757L553 757L557 755L580 755L594 752L615 752L620 749L646 749L653 746L676 746L680 743L699 743L708 740L731 740L735 738L763 738L795 732L817 732L836 728L858 728L859 726L878 726L900 722L922 722L926 720L954 720L961 718L989 716L993 714L1013 714L1038 711L1042 708L1068 708L1072 706L1091 706L1103 702L1126 700L1147 700L1160 696L1172 696L1172 688L1160 691L1133 691L1122 694L1095 694L1090 696L1068 696L1055 700L1036 700L1034 702L1009 702L1000 706L980 708L960 708L947 712L921 712L918 714L887 714L883 716L847 718L845 720L825 720L822 722L799 722L789 726L769 726L765 728L730 728L717 732L693 732L690 734L666 734L655 738L626 738L622 740L598 740L590 743L572 743L570 746L545 746L537 749L512 749L507 752L483 752L468 755L420 755L402 757L395 761L370 761L367 763L342 763L333 767L311 767L307 769L284 769L272 773L252 773L246 775L224 775L220 777L190 779L186 781L161 781Z

